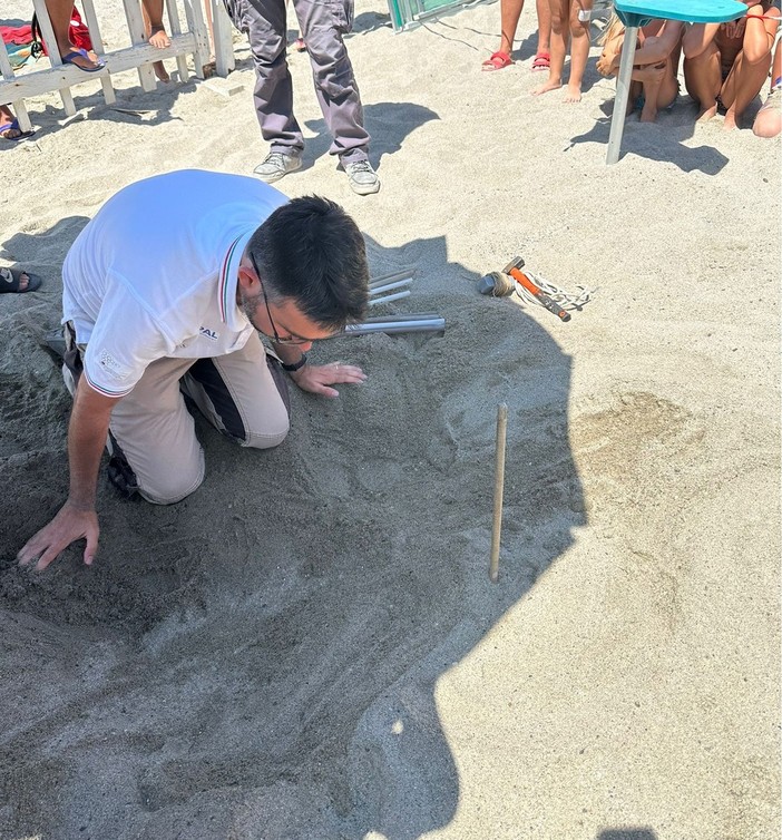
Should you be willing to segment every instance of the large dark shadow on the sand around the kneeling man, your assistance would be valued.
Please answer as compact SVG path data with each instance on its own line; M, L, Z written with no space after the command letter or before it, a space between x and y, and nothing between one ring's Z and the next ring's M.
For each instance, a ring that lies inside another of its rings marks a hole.
M43 575L14 564L67 490L68 398L50 360L46 404L40 377L3 372L45 441L11 439L0 460L25 499L0 521L0 625L17 668L3 681L14 714L0 824L13 837L413 840L452 820L459 775L437 682L586 521L570 359L512 301L478 295L442 237L368 244L375 276L439 266L399 311L438 311L446 333L323 343L322 361L350 359L370 380L335 401L294 392L275 450L242 450L199 422L207 479L178 505L126 502L101 482L90 569L78 548ZM56 323L49 305L41 320ZM35 330L19 342L46 359ZM652 840L615 834L600 838Z

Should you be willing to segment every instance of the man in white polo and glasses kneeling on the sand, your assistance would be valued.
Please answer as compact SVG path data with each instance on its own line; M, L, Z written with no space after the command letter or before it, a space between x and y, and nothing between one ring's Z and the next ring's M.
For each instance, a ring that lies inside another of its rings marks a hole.
M70 489L20 563L46 568L82 538L92 563L107 439L109 477L128 495L169 505L201 485L183 392L242 446L267 448L289 430L283 370L326 397L362 382L361 369L311 365L305 353L361 319L368 281L361 232L324 198L289 201L255 178L201 170L117 193L62 266Z

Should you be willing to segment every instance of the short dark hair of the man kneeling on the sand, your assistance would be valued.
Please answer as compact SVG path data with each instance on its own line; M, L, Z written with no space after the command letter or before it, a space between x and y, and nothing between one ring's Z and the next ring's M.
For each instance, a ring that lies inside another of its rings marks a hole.
M334 202L309 195L277 207L247 250L270 300L292 299L325 330L363 318L369 302L364 240Z

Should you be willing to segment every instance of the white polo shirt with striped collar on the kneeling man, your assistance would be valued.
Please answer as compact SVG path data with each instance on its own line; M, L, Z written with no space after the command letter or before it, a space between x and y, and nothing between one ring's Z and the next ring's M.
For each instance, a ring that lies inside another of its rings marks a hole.
M241 175L185 169L121 189L62 266L62 323L87 344L87 382L124 397L164 356L240 350L253 326L236 305L250 237L287 198Z

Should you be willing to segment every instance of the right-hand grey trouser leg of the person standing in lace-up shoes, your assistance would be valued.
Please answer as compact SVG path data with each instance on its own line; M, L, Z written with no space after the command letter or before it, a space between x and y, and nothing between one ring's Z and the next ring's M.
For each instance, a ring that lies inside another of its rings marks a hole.
M359 86L343 36L353 26L353 0L293 0L312 65L317 102L333 143L329 154L343 164L369 159Z

